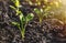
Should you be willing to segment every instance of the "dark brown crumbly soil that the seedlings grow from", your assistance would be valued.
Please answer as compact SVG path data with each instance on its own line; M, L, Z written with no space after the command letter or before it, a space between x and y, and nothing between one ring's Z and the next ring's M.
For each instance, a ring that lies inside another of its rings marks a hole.
M3 0L4 1L4 0ZM66 43L66 25L57 19L45 19L40 24L35 17L25 28L25 39L21 39L20 30L10 24L19 22L15 11L10 9L10 1L0 1L0 43ZM23 2L23 1L22 1ZM24 6L24 4L23 4ZM32 12L34 7L21 8L24 15Z

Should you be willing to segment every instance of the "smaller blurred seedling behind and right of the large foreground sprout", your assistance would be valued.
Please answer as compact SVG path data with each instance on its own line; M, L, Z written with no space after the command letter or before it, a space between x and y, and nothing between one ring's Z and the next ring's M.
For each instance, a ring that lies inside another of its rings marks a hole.
M50 9L51 9L51 8L47 8L47 9L45 9L45 10L43 10L43 9L37 9L37 8L34 9L35 13L36 13L37 17L38 17L40 24L42 23L44 17L47 17Z

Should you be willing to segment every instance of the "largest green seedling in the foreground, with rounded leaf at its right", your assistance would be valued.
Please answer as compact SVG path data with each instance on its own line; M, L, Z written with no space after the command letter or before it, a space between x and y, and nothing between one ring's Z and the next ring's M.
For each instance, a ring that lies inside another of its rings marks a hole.
M13 10L15 10L16 15L19 15L20 18L20 22L11 22L13 25L18 26L20 32L21 32L21 36L22 39L24 39L24 34L25 34L25 26L28 24L28 22L30 22L33 19L33 13L29 13L26 17L23 15L23 13L20 11L20 1L19 0L12 0L14 6L10 6Z

